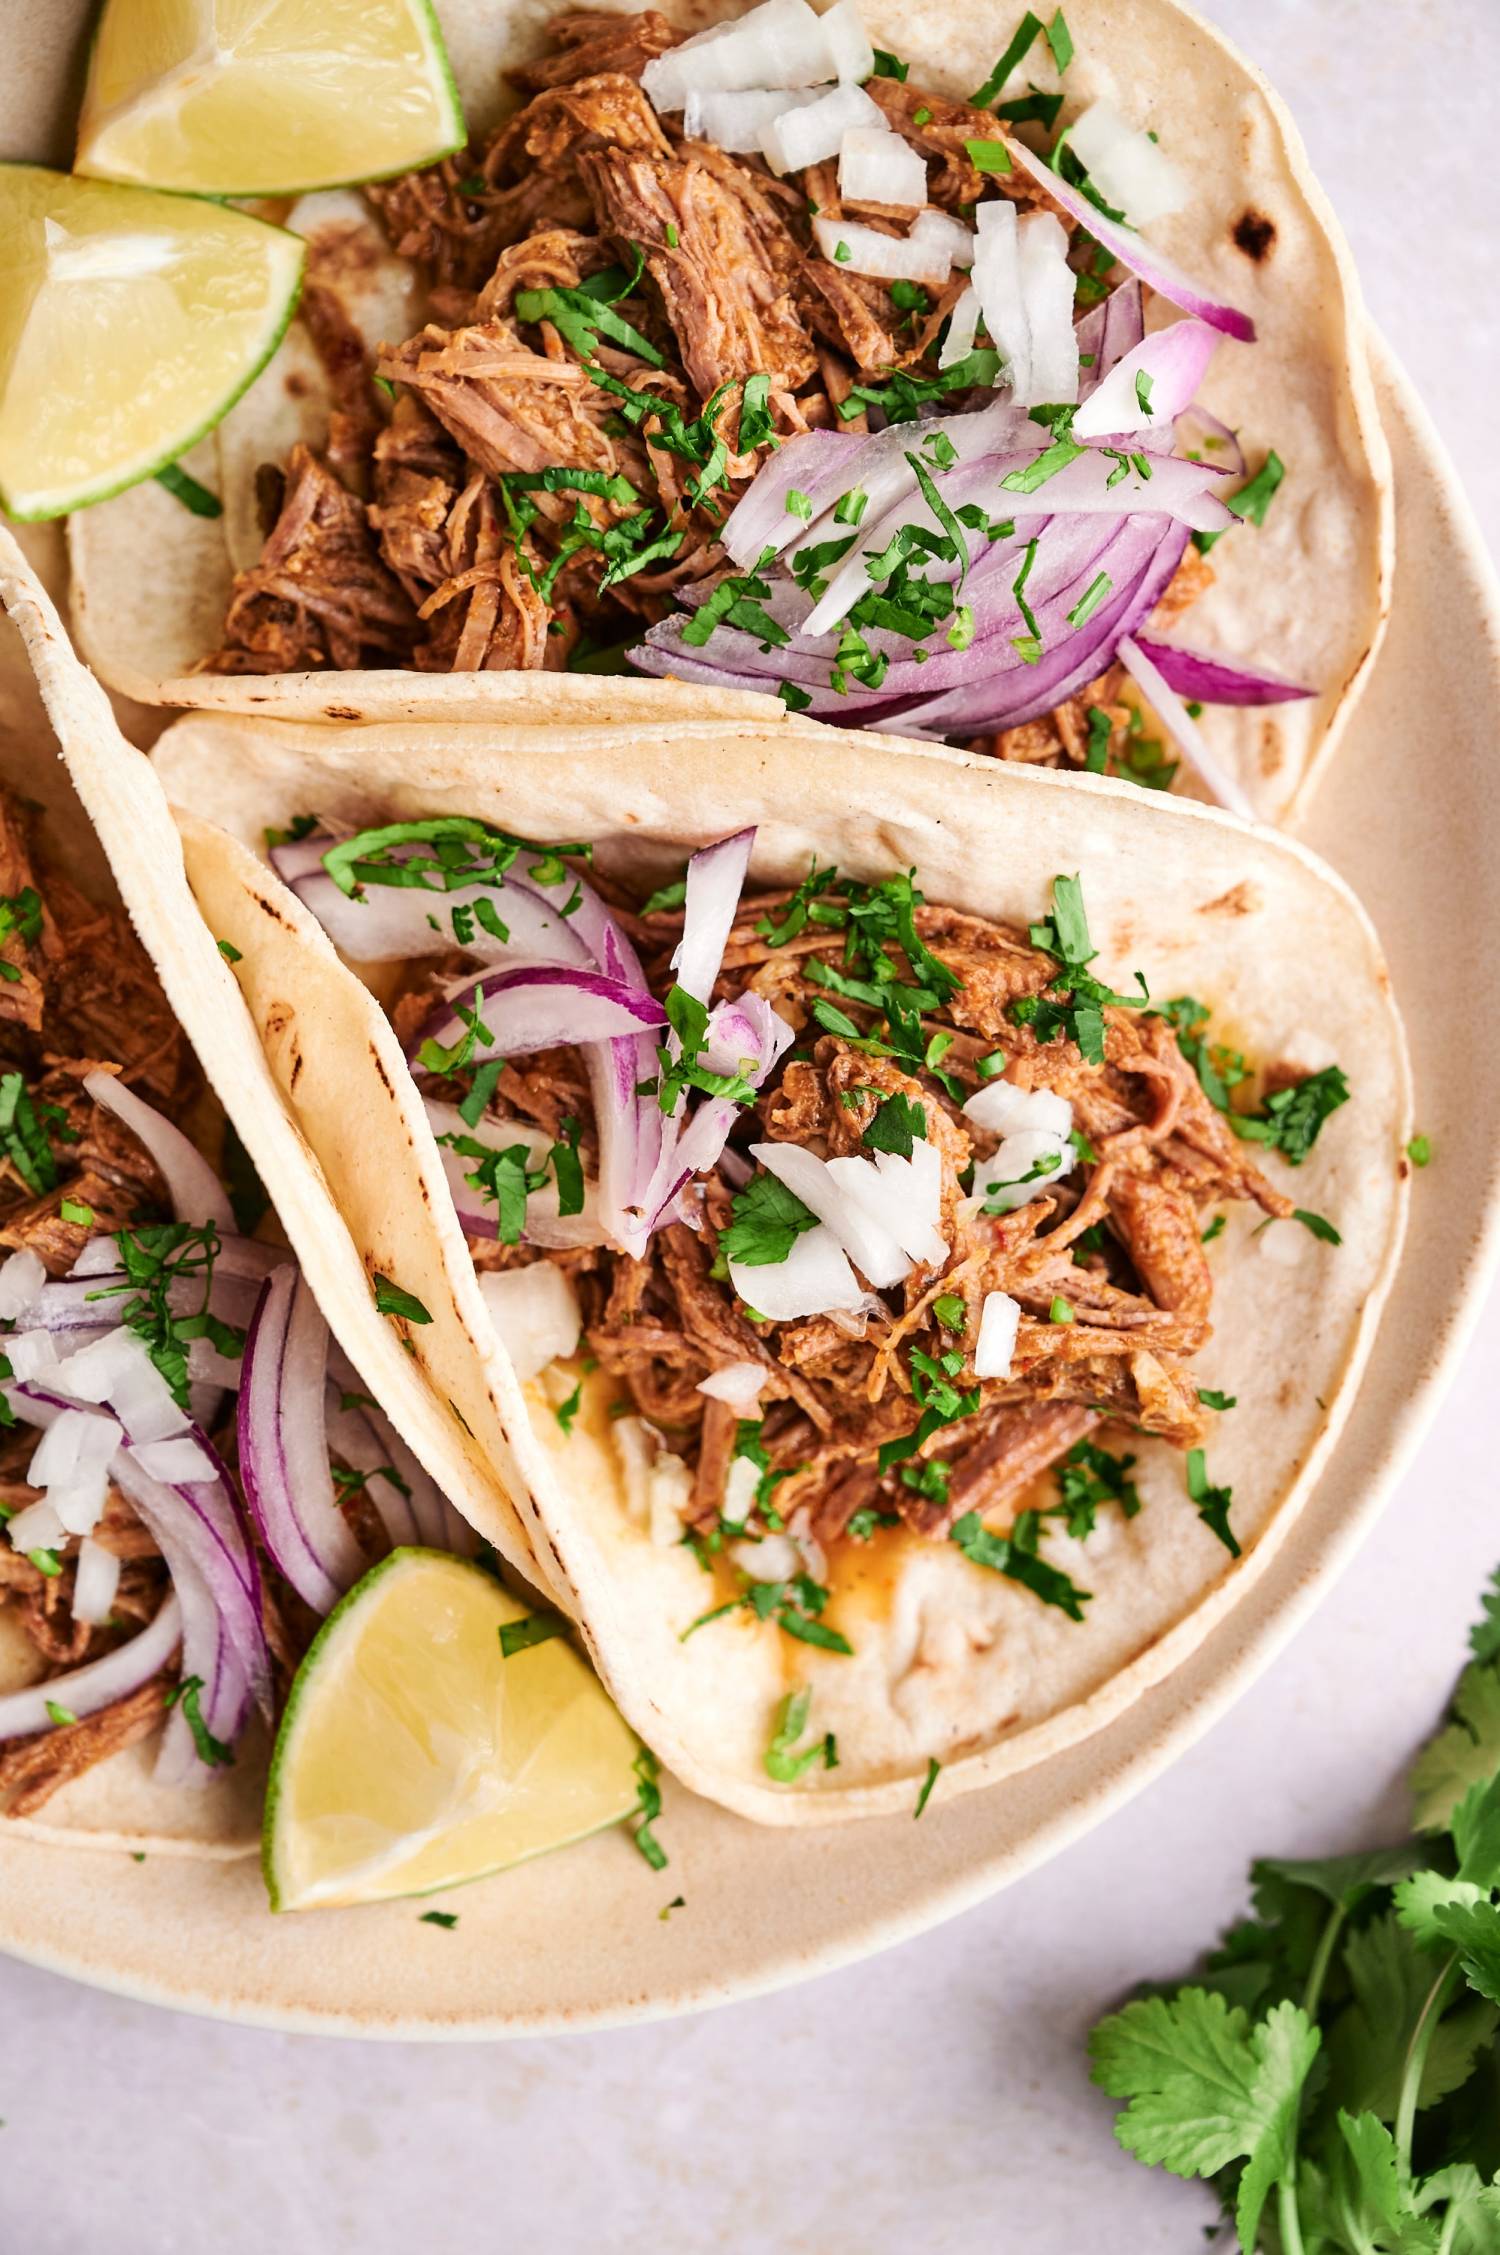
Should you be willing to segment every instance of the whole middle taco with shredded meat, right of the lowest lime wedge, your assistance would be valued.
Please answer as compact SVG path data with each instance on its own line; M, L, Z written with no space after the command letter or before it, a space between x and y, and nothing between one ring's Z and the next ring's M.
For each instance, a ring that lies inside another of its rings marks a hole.
M794 719L196 715L153 769L345 1213L347 1118L413 1125L386 1243L447 1197L548 1576L695 1790L986 1784L1263 1569L1408 1173L1385 967L1311 855Z

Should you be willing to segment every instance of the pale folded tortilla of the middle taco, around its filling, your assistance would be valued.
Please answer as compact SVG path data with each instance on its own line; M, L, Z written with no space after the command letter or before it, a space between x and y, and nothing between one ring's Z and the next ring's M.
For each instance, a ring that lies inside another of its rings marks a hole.
M271 1073L356 1243L379 1222L381 1258L404 1261L406 1233L413 1258L438 1236L465 1319L433 1326L433 1380L447 1369L469 1398L483 1369L505 1430L503 1477L526 1484L517 1511L548 1581L611 1696L686 1784L783 1824L911 1809L929 1759L943 1763L941 1793L1044 1761L1225 1624L1333 1445L1405 1213L1401 1024L1365 913L1313 855L1103 778L1060 782L873 735L828 755L796 722L623 735L194 715L162 735L153 767L135 789L174 803L201 916L244 952L237 976ZM812 855L864 879L916 868L929 900L1022 927L1044 909L1049 879L1078 870L1101 976L1126 985L1139 967L1153 994L1193 992L1263 1062L1313 1049L1338 1058L1351 1100L1302 1168L1272 1157L1268 1173L1329 1215L1342 1245L1290 1222L1256 1233L1241 1209L1211 1252L1214 1339L1193 1371L1238 1403L1211 1448L1214 1479L1234 1486L1238 1563L1195 1518L1182 1454L1146 1439L1135 1443L1139 1518L1101 1520L1087 1545L1049 1536L1049 1558L1094 1592L1083 1626L950 1542L898 1538L850 1563L835 1590L828 1617L853 1657L792 1646L747 1612L683 1642L713 1588L686 1547L654 1542L632 1515L602 1382L584 1378L564 1434L544 1387L519 1387L483 1310L471 1315L474 1270L458 1233L433 1229L440 1157L415 1085L388 1062L390 1026L262 859L264 828L295 814L336 828L469 814L539 841L593 841L605 873L647 884L677 875L704 841L756 825L751 882L794 884ZM314 1069L293 1073L298 1058ZM374 1159L381 1114L411 1128L404 1177ZM453 1351L474 1367L442 1362ZM399 1416L402 1400L390 1394L388 1407ZM489 1533L480 1500L467 1509ZM812 1687L819 1734L837 1732L839 1768L776 1786L762 1757L794 1682Z

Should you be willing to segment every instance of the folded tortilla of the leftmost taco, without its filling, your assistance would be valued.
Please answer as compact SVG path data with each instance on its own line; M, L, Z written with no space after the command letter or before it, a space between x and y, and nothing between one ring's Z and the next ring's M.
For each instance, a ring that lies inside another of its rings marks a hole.
M255 990L250 979L246 994L259 1008L241 999L214 945L228 938L228 929L205 925L194 904L178 832L149 760L120 733L104 690L79 665L41 580L5 528L0 602L20 627L68 773L104 843L131 922L250 1152L334 1337L444 1493L483 1524L517 1574L568 1606L562 1576L539 1565L532 1542L535 1511L510 1457L487 1373L492 1342L483 1303L476 1290L451 1290L467 1252L440 1170L440 1195L431 1209L422 1204L426 1118L415 1091L399 1089L406 1080L399 1044L388 1035L350 1060L350 979L332 954L305 949L300 936L291 940L295 1010L277 1015L275 997ZM257 911L257 922L273 940L280 936L264 911ZM275 949L257 931L255 972L266 976L275 963ZM359 992L363 997L363 988ZM305 1139L295 1109L282 1100L277 1071L300 1091L307 1085L323 1094L329 1073L343 1082L343 1128L329 1132L320 1150ZM374 1112L363 1100L365 1080L381 1096ZM399 1096L386 1100L390 1089ZM332 1173L325 1170L329 1166ZM363 1197L356 1191L361 1182ZM411 1195L392 1202L392 1182L411 1186ZM390 1231L381 1224L383 1206L395 1206ZM415 1292L433 1312L431 1326L397 1328L377 1315L374 1272ZM521 1506L512 1504L512 1495L521 1497ZM34 1673L29 1646L20 1651L0 1637L0 1689L18 1689ZM54 1793L41 1815L0 1818L9 1827L7 1838L208 1856L250 1854L259 1845L266 1745L257 1732L246 1739L232 1770L214 1772L194 1790L158 1786L153 1757L156 1741L113 1754Z

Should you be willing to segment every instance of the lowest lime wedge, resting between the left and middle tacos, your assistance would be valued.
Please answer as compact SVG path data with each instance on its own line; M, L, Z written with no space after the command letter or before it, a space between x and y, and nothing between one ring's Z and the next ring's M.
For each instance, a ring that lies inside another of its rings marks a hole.
M273 1910L431 1894L618 1824L638 1743L566 1637L483 1567L383 1558L318 1630L266 1788Z

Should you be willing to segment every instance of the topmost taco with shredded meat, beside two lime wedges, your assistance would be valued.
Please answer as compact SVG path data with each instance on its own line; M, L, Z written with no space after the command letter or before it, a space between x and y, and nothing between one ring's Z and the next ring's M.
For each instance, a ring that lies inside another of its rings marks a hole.
M471 142L277 212L300 318L187 458L221 514L74 516L106 681L370 722L749 695L1290 812L1378 643L1389 465L1342 239L1209 27L440 16Z

